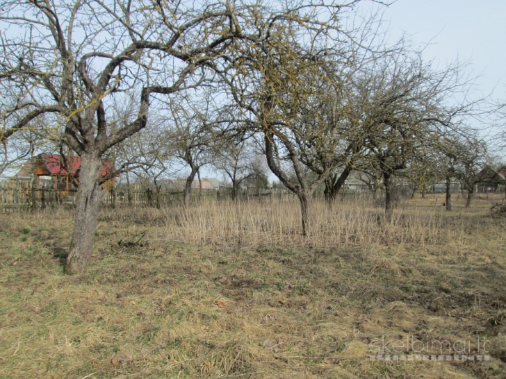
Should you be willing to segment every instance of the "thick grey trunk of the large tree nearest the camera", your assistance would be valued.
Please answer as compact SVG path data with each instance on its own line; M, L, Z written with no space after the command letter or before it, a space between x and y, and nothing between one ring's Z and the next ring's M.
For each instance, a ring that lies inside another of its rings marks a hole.
M92 153L81 155L81 169L79 174L79 189L74 217L74 233L70 243L70 252L65 265L65 273L80 273L85 271L90 258L97 218L101 203L101 188L97 183L102 162Z

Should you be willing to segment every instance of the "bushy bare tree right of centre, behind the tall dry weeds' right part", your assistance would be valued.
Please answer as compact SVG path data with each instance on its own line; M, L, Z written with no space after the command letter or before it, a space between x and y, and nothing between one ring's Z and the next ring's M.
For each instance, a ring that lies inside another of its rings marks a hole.
M385 217L393 212L393 176L414 182L423 177L442 135L457 130L477 103L455 97L471 83L459 63L433 69L420 53L402 49L373 61L361 81L366 150L361 169L376 171L385 189ZM418 177L418 178L416 178Z

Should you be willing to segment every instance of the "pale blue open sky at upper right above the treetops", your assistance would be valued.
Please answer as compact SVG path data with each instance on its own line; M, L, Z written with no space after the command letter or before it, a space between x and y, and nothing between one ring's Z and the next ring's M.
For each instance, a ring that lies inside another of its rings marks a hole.
M393 40L406 33L415 44L432 41L424 58L440 67L470 60L480 91L506 98L506 0L397 0L379 10Z

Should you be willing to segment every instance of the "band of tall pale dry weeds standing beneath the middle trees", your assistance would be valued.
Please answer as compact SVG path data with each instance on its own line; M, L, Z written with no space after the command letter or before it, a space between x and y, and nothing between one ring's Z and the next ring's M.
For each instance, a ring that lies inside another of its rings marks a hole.
M330 208L315 201L307 235L302 235L300 208L293 201L204 203L193 208L142 210L135 215L115 211L114 217L135 217L155 226L151 235L193 245L251 248L308 246L318 249L377 244L425 246L462 243L462 235L477 222L439 209L405 207L386 222L383 212L364 202ZM479 221L478 221L479 222ZM156 231L155 231L156 230ZM460 241L460 242L459 242Z

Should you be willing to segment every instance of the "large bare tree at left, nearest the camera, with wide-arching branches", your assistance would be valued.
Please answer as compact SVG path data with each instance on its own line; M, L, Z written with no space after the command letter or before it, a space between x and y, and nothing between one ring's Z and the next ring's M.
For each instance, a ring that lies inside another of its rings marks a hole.
M0 86L14 100L1 110L10 126L0 142L55 113L65 118L67 143L81 157L67 273L83 271L91 253L104 153L145 127L157 95L202 83L209 62L243 37L238 20L252 8L205 1L3 3ZM139 106L129 124L112 131L108 104L124 94L136 94Z

